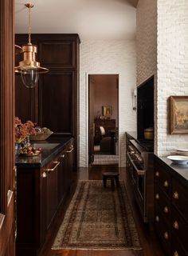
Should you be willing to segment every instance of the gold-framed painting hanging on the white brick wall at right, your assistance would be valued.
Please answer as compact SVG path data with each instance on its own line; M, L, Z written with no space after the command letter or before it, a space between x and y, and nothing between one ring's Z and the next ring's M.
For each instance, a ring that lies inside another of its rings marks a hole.
M188 96L170 96L170 134L188 134Z

